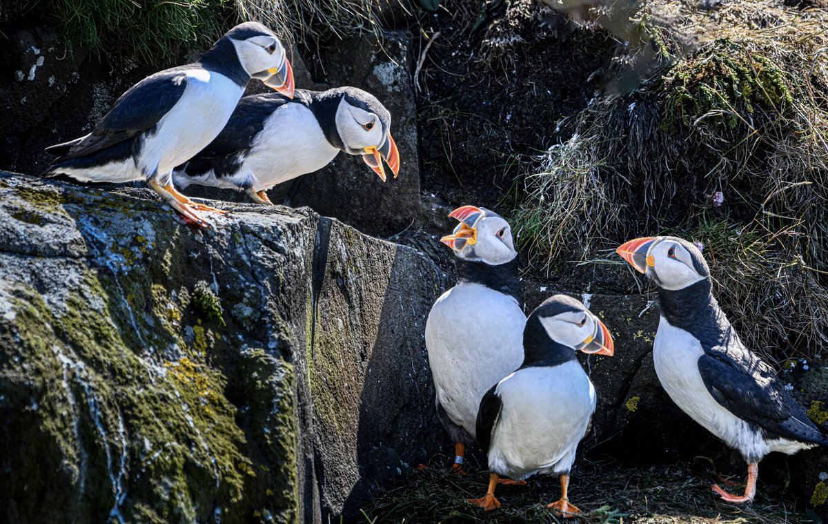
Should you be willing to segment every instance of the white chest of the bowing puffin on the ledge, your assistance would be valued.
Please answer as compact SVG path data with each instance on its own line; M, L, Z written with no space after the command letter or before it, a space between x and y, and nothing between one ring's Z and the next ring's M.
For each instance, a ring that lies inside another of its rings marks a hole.
M239 173L252 173L261 191L325 167L336 153L310 109L284 104L265 121Z

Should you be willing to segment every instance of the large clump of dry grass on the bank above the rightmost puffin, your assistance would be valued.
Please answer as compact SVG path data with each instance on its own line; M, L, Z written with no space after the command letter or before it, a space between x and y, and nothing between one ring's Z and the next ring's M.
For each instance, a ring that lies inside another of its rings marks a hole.
M828 342L828 12L678 5L698 51L559 123L515 229L546 271L634 236L700 241L729 318L779 361Z

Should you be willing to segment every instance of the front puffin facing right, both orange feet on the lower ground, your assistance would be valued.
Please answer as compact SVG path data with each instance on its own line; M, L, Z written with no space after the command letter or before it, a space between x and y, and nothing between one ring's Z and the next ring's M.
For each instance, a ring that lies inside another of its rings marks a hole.
M609 329L575 298L547 298L527 318L521 366L480 400L477 440L489 458L489 490L469 502L493 510L500 507L494 488L501 475L524 479L549 473L560 476L561 498L547 507L567 518L580 513L567 490L596 399L578 351L612 357Z

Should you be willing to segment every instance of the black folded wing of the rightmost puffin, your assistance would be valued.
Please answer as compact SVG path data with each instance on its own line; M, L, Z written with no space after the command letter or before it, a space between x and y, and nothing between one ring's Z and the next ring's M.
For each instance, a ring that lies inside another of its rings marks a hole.
M828 445L828 436L782 389L773 369L758 357L750 357L735 360L724 350L699 357L701 380L716 402L770 437Z

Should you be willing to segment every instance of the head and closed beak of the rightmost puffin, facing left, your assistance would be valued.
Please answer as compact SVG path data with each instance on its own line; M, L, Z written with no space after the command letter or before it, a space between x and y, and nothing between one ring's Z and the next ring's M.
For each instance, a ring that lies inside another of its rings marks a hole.
M662 289L676 291L710 279L710 269L699 248L676 236L629 240L615 251Z

